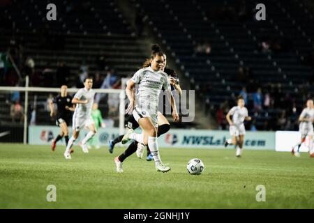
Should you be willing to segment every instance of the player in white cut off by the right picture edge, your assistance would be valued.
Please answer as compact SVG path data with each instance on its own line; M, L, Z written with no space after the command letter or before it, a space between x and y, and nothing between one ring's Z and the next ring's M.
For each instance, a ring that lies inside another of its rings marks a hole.
M292 147L292 155L295 155L297 157L300 156L299 149L301 144L304 143L306 140L306 136L308 136L308 139L310 140L309 146L308 146L308 152L310 153L311 157L314 157L313 155L313 120L314 120L314 105L313 100L309 99L306 102L306 108L303 109L299 116L299 131L301 132L301 141ZM294 152L294 148L297 148L297 151Z

